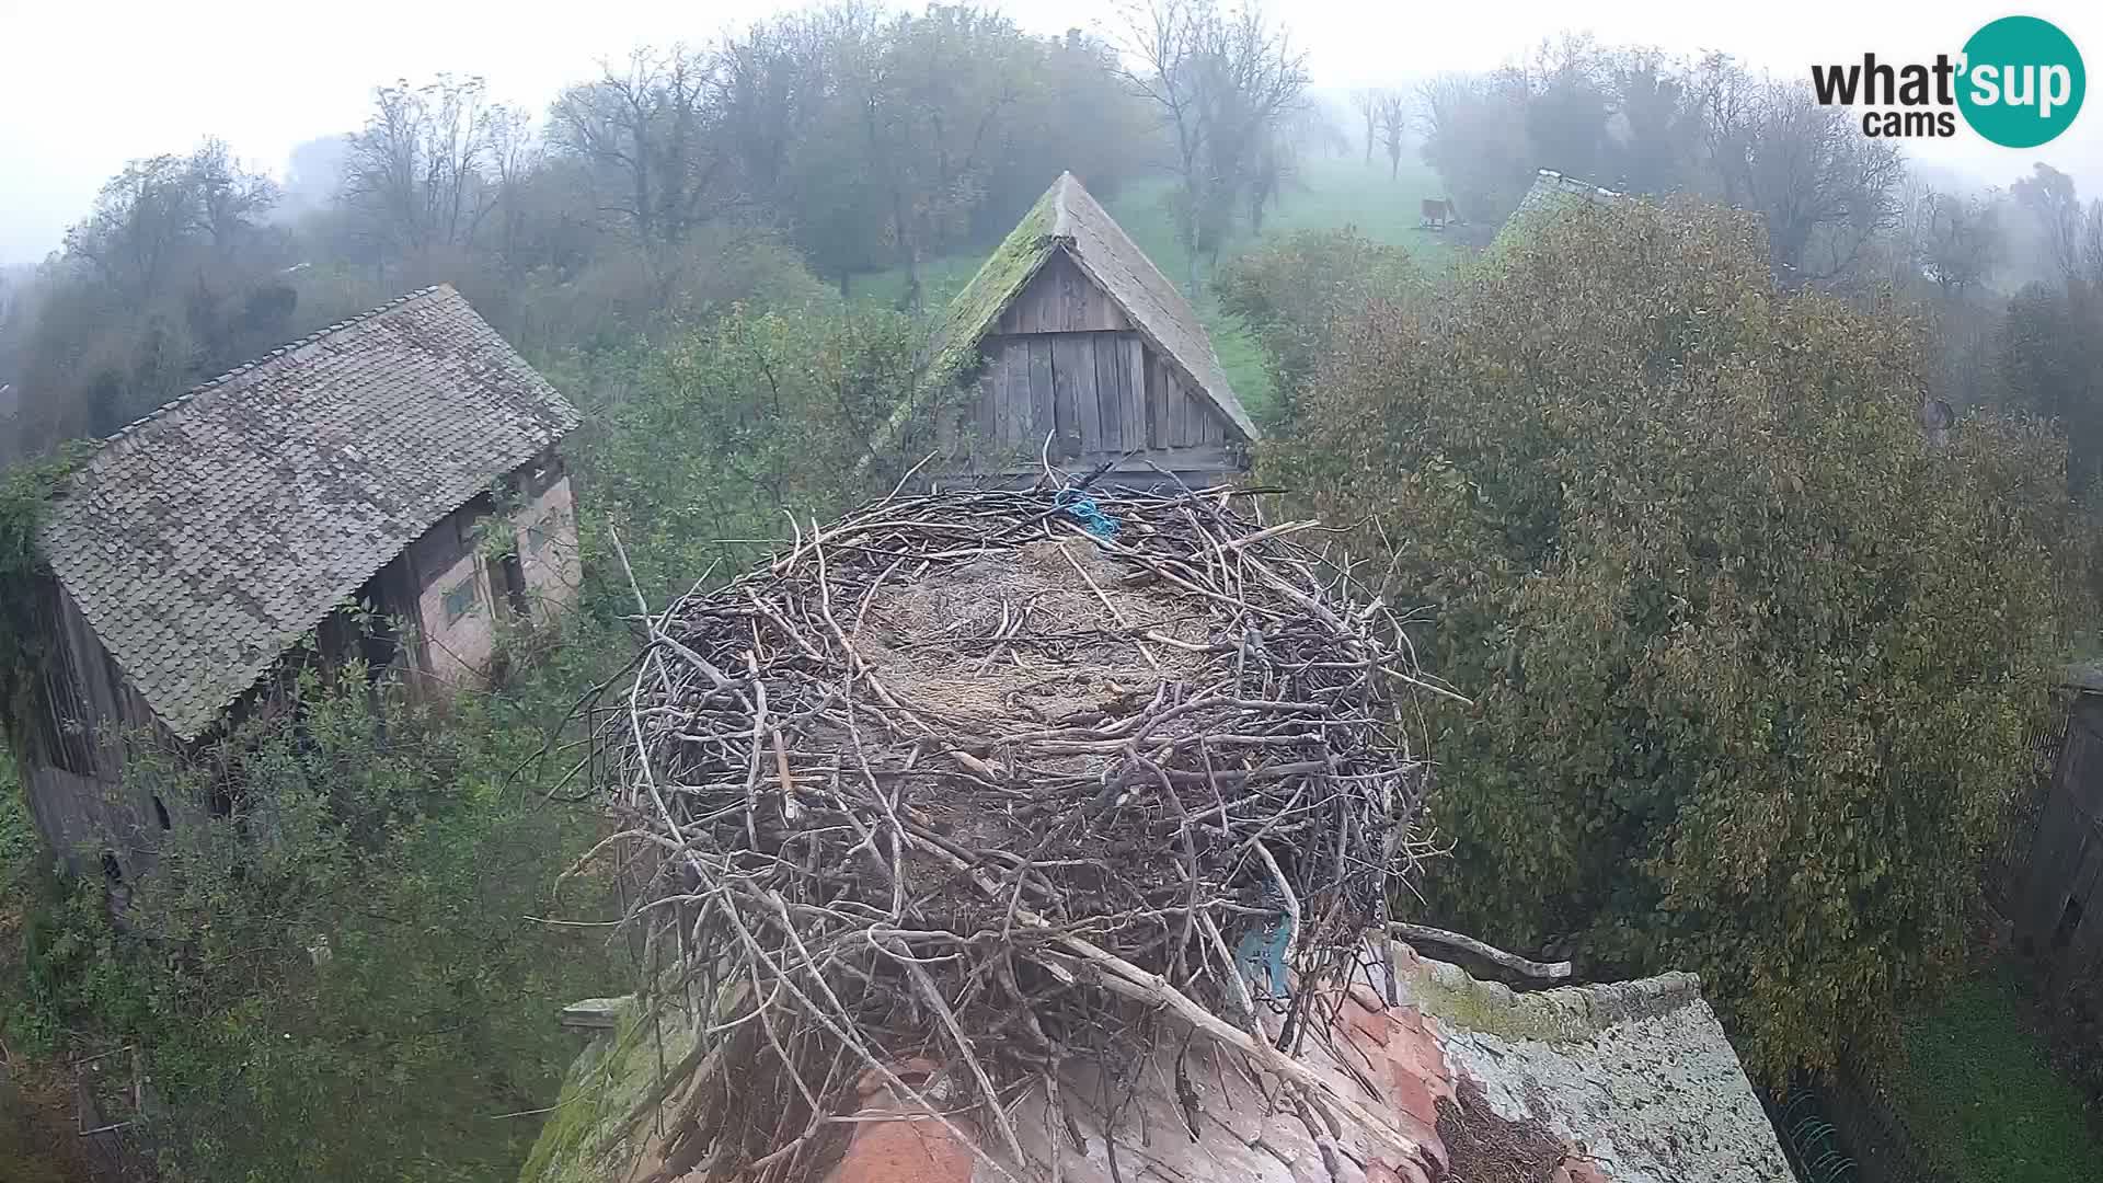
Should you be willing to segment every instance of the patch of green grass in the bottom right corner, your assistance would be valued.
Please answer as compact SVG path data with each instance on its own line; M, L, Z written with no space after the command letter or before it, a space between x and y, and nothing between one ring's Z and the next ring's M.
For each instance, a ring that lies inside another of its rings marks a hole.
M2095 1183L2103 1143L2023 1021L2019 989L1981 975L1901 1023L1907 1065L1891 1092L1922 1149L1966 1183Z

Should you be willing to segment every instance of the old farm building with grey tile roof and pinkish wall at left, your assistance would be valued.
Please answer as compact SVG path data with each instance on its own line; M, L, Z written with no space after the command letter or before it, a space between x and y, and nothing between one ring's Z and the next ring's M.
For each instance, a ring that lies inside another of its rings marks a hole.
M135 871L185 804L132 800L126 743L196 749L271 709L307 636L324 669L362 655L416 693L482 678L498 613L576 596L555 455L576 421L435 286L105 440L38 526L42 659L6 720L53 848L99 844L105 871ZM339 613L351 604L379 623Z

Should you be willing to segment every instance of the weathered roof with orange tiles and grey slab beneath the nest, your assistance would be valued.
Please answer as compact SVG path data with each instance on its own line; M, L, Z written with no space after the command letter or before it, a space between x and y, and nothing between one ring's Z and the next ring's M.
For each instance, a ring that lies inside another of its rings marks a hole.
M824 1181L978 1183L1003 1177L991 1168L997 1162L1012 1179L1070 1183L1142 1175L1184 1183L1790 1183L1775 1128L1693 975L1514 994L1407 945L1394 945L1394 962L1398 1006L1386 1006L1375 983L1359 981L1333 1015L1310 1008L1329 1015L1329 1027L1304 1042L1304 1063L1363 1101L1386 1132L1344 1122L1316 1143L1300 1114L1260 1092L1230 1057L1178 1057L1184 1044L1165 1036L1152 1065L1159 1071L1112 1082L1075 1057L1060 1082L1062 1107L1049 1105L1041 1086L1014 1097L1009 1116L1028 1164L1016 1164L991 1135L980 1139L988 1162L974 1164L974 1154L934 1122L881 1120L915 1109L869 1074L858 1120L848 1126L854 1135ZM633 1000L627 1010L635 1010ZM683 1050L692 1031L673 1031L677 1008L667 1012L665 1042ZM1277 1036L1281 1019L1262 1021ZM625 1023L637 1027L633 1015ZM637 1154L652 1164L660 1147L622 1137L641 1128L631 1114L658 1080L650 1048L631 1034L585 1052L562 1103L604 1097L604 1124L593 1130L589 1114L585 1128L551 1122L524 1183L608 1183ZM1123 1097L1115 1122L1094 1103L1108 1095ZM1110 1168L1106 1128L1115 1128L1121 1172ZM1323 1168L1329 1154L1344 1172Z

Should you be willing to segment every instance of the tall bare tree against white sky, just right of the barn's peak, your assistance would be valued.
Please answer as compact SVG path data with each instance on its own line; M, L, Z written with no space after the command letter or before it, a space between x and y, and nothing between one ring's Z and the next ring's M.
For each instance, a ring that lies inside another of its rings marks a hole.
M1176 232L1195 293L1199 255L1218 255L1237 196L1306 93L1306 55L1253 2L1230 13L1216 0L1134 4L1125 42L1125 78L1155 105L1176 149Z

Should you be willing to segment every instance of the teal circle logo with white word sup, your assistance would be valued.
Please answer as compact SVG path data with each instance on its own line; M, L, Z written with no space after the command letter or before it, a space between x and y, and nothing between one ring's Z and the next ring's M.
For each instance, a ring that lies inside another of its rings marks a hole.
M2002 17L1964 42L1958 109L2002 147L2038 147L2067 131L2088 76L2074 38L2038 17Z

